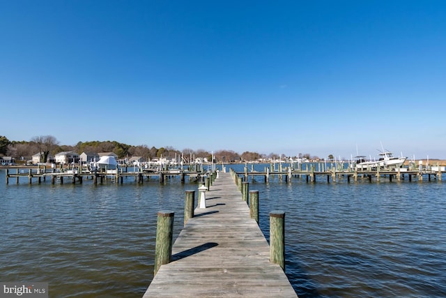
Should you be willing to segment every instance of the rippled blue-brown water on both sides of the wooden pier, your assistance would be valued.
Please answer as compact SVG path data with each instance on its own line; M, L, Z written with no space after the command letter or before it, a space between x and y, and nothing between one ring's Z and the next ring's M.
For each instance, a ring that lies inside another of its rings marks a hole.
M0 171L0 281L47 282L50 297L141 297L156 213L176 212L176 237L197 184L49 180L6 186ZM249 183L267 239L269 211L286 211L286 273L300 297L446 297L446 181Z

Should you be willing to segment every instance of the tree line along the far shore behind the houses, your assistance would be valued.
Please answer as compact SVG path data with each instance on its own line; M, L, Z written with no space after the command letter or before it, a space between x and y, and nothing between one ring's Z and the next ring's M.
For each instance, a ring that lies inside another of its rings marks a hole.
M279 158L279 154L260 154L258 152L245 151L238 154L233 150L221 149L212 152L204 149L192 150L186 148L183 150L174 149L174 147L149 147L146 144L133 146L123 144L116 141L89 141L78 142L74 146L61 145L56 137L52 135L40 135L32 137L29 141L10 141L6 136L0 135L0 154L4 156L12 156L16 161L30 160L34 154L40 154L40 160L46 162L48 156L54 156L62 151L74 151L77 154L82 152L114 152L118 158L130 158L132 156L141 156L146 161L153 158L175 158L183 156L185 161L191 158L207 158L208 161L212 157L215 162L231 163L240 161L258 161L263 158ZM311 158L309 154L299 154L299 157ZM313 157L314 158L314 157ZM316 157L317 158L317 157Z

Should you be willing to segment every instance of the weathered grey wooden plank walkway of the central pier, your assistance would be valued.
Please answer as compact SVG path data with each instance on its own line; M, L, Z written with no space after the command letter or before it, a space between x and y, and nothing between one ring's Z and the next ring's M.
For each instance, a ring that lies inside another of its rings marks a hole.
M208 208L195 209L162 265L148 297L297 297L247 203L228 173L206 192Z

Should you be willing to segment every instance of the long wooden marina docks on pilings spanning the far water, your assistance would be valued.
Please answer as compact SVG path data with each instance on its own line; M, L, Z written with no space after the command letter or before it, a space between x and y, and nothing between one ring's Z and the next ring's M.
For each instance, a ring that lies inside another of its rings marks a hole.
M215 167L216 165L214 165ZM208 169L212 165L207 166ZM224 165L222 165L224 167ZM118 184L123 184L123 179L134 179L137 184L144 183L144 180L155 178L158 179L160 184L164 184L166 178L180 177L180 181L185 182L186 177L188 179L194 179L199 181L202 177L206 176L208 169L203 166L197 167L194 165L186 165L184 167L176 168L164 168L164 169L151 169L151 170L129 170L129 167L120 167L118 170L102 170L98 172L90 172L86 170L54 170L47 169L46 167L17 167L15 170L13 167L4 167L6 170L6 184L10 183L10 179L15 178L17 184L19 184L20 178L27 178L29 184L33 183L33 180L37 180L40 184L46 179L51 179L51 184L63 184L64 181L72 184L82 184L84 179L92 179L93 184L102 184L104 180L111 180ZM192 169L192 170L190 170ZM243 172L237 172L237 174L248 181L251 177L263 177L265 182L268 182L270 177L277 176L279 179L283 179L286 182L291 182L293 178L306 179L307 182L327 181L330 183L346 179L348 182L358 181L359 179L368 179L372 181L380 181L382 179L389 179L390 181L436 181L442 180L442 175L446 173L445 166L434 167L401 167L401 168L382 168L380 169L354 169L344 164L323 164L313 163L309 165L291 165L288 167L275 168L275 165L265 167L265 170L254 170L253 165L251 168L245 165Z

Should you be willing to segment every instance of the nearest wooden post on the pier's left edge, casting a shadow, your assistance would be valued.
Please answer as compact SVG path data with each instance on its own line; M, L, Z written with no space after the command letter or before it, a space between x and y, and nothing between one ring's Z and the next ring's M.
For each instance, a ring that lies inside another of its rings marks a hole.
M170 262L174 235L174 214L174 211L158 211L153 276L156 275L161 265Z

